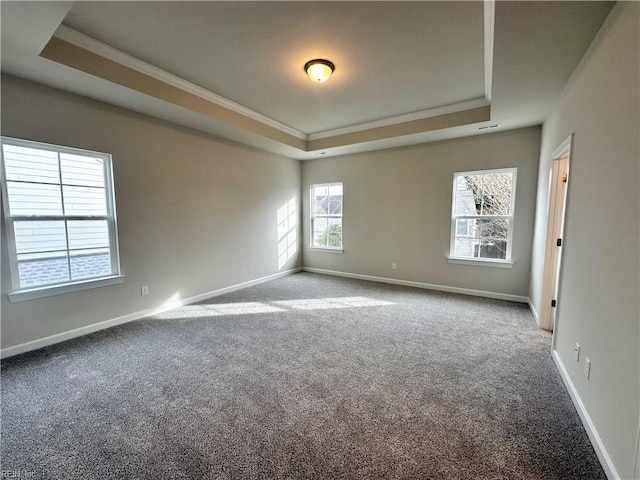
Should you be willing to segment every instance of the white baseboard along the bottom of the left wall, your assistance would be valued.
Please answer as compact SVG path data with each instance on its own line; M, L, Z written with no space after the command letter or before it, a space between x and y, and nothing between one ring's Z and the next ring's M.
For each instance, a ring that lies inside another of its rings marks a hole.
M243 288L247 288L253 285L258 285L259 283L275 280L276 278L284 277L286 275L291 275L292 273L297 273L300 271L302 271L302 268L293 268L291 270L286 270L284 272L274 273L273 275L267 275L266 277L260 277L255 280L249 280L248 282L238 283L236 285L231 285L229 287L224 287L218 290L213 290L211 292L195 295L193 297L176 300L175 302L164 303L158 307L148 308L146 310L129 313L121 317L112 318L110 320L93 323L85 327L75 328L73 330L68 330L66 332L56 333L48 337L39 338L37 340L32 340L30 342L25 342L19 345L14 345L12 347L3 348L2 350L0 350L0 358L12 357L14 355L19 355L21 353L30 352L31 350L37 350L38 348L47 347L55 343L64 342L65 340L70 340L72 338L81 337L82 335L87 335L89 333L97 332L99 330L104 330L105 328L115 327L116 325L121 325L123 323L139 320L141 318L149 317L151 315L156 315L161 312L166 312L167 310L181 307L183 305L189 305L190 303L200 302L202 300L207 300L212 297L217 297L225 293L235 292L236 290L242 290Z

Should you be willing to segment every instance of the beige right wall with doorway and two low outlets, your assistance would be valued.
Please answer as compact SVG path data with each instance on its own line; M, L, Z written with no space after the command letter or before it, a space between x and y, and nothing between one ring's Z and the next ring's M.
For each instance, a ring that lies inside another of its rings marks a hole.
M574 133L555 353L625 479L640 419L639 7L614 7L544 124L530 292L539 311L551 154Z

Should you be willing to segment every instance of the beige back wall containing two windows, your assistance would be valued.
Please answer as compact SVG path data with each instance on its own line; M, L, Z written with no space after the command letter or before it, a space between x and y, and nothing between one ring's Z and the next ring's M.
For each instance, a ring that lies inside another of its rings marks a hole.
M304 162L304 266L527 297L539 149L533 127ZM505 167L518 167L513 268L448 263L454 172ZM308 248L309 185L325 182L344 183L344 254Z

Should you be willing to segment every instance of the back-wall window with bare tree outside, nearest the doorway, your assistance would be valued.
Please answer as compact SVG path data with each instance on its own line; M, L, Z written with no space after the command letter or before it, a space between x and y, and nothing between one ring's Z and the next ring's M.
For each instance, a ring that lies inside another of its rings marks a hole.
M451 258L510 262L517 169L453 176Z

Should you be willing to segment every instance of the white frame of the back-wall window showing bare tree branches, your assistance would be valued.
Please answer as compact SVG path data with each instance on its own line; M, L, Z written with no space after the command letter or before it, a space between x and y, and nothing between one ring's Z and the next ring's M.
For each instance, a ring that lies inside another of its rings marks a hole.
M456 215L456 185L459 177L468 175L491 175L496 173L511 173L511 203L509 206L509 215ZM513 226L515 218L515 205L516 205L516 185L518 183L518 169L513 168L497 168L488 170L474 170L469 172L455 172L453 174L453 190L451 194L451 232L450 232L450 244L449 244L449 263L462 264L462 265L480 265L499 268L512 268L513 261L511 257L511 251L513 246ZM455 241L456 241L456 220L458 219L470 219L477 220L482 218L491 219L504 219L508 222L507 230L507 252L506 258L480 258L480 257L462 257L454 255Z

